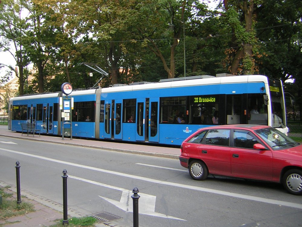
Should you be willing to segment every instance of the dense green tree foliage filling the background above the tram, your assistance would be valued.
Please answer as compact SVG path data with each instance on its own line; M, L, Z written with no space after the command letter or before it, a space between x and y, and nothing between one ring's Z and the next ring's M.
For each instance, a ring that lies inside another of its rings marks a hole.
M186 76L230 72L235 64L235 73L299 81L301 1L218 3L217 11L195 0L2 0L0 49L9 50L14 40L22 48L14 51L19 60L22 56L18 65L34 64L34 80L28 89L24 84L24 93L58 91L64 82L92 87L101 75L79 65L82 62L109 73L102 87L156 82L167 74L182 77L184 65ZM18 12L24 8L29 13L20 19ZM9 32L7 21L17 28L14 32ZM240 50L244 56L236 62Z

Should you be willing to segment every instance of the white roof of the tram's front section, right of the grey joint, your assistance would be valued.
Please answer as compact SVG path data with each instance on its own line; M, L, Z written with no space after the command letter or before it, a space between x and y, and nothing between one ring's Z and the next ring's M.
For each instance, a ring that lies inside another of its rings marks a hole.
M130 90L147 90L147 89L159 89L159 88L169 88L169 87L190 87L196 85L207 85L207 84L234 84L234 83L248 83L248 82L259 82L264 81L268 83L268 78L263 75L241 75L241 76L226 76L226 77L212 77L212 76L201 76L198 78L185 80L174 80L167 79L168 81L160 83L151 83L151 84L138 84L138 85L129 85L121 87L107 87L102 88L102 93L111 93L119 91L130 91Z

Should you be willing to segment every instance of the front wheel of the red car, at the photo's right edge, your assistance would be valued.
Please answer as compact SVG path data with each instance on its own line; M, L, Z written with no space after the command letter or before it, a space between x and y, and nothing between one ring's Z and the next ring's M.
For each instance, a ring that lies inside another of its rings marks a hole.
M288 170L282 178L282 183L289 193L293 195L302 195L302 170Z

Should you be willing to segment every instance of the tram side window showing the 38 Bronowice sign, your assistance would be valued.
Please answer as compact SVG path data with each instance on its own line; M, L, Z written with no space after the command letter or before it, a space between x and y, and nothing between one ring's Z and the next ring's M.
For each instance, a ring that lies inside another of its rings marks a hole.
M190 97L190 123L214 124L213 117L218 111L219 97L214 96L191 96ZM219 119L218 119L219 121Z

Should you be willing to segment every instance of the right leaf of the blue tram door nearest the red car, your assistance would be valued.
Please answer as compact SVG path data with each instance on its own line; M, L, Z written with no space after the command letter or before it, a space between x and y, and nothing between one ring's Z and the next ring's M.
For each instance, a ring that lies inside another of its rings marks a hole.
M149 99L148 133L150 142L159 142L159 98Z

